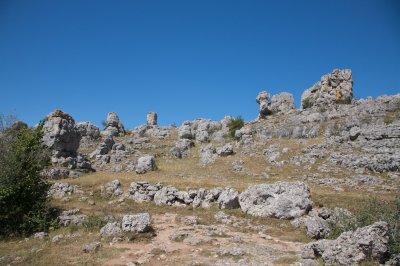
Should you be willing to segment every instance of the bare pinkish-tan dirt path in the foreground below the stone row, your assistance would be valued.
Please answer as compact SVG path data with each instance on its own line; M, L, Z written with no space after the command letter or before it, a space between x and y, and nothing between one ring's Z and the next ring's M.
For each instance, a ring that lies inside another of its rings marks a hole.
M277 259L293 259L301 251L301 243L282 241L267 235L241 233L220 224L185 226L176 222L176 216L173 213L155 215L153 224L157 235L149 242L110 244L123 251L105 265L127 265L130 262L163 266L239 263L274 265ZM170 236L176 232L188 232L189 237L184 241L171 241Z

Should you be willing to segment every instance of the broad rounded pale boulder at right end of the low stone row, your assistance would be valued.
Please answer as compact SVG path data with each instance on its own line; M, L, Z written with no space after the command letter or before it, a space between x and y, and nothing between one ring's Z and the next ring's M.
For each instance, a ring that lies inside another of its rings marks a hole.
M253 216L292 219L312 207L310 188L302 182L277 182L249 187L240 194L241 209Z

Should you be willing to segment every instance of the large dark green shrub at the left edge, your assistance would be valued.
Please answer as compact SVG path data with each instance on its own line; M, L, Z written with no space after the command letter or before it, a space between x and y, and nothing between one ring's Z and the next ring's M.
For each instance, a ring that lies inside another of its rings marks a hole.
M0 129L0 237L29 235L53 225L56 210L48 203L49 184L40 175L49 161L41 129L42 124L28 128L23 123Z

